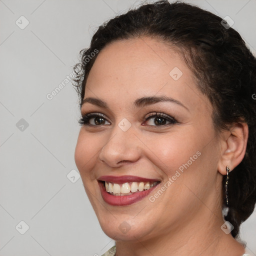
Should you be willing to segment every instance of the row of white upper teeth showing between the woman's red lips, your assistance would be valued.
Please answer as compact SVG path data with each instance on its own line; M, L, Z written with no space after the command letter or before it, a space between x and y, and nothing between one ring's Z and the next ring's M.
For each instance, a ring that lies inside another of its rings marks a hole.
M122 195L122 194L131 194L136 191L148 190L152 186L156 185L158 182L125 182L123 184L111 183L105 181L105 189L109 193L113 193L114 195Z

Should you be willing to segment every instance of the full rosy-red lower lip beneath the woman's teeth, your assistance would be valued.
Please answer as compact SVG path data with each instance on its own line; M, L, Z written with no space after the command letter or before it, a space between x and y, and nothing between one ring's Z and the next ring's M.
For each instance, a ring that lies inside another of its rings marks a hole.
M129 205L132 203L135 203L141 199L143 199L145 196L147 196L150 192L152 192L152 190L159 185L159 183L147 190L143 190L141 192L137 191L133 194L129 194L129 195L112 195L109 194L106 190L105 190L105 186L103 182L98 182L99 187L100 187L100 192L101 192L101 196L103 198L103 200L105 202L107 202L110 205L114 205L114 206L123 206L123 205Z

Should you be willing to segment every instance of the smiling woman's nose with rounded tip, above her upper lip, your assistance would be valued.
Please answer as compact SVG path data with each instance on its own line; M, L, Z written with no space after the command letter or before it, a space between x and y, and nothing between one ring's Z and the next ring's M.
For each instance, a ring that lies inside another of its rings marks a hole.
M136 162L141 157L139 142L132 128L123 131L116 125L101 148L99 159L113 168L127 162Z

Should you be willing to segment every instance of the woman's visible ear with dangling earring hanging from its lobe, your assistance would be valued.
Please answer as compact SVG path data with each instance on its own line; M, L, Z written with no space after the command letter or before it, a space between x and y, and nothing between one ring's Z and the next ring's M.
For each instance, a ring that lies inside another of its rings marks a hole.
M243 159L247 140L248 125L245 122L234 123L228 131L221 134L221 155L218 162L218 171L226 175L226 166L233 170Z

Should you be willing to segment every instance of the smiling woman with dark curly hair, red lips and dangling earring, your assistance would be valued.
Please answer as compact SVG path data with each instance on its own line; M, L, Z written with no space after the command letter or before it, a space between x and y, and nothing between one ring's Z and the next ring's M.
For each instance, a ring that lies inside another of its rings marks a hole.
M75 162L104 255L245 253L256 201L256 59L220 17L158 1L98 28L74 70Z

